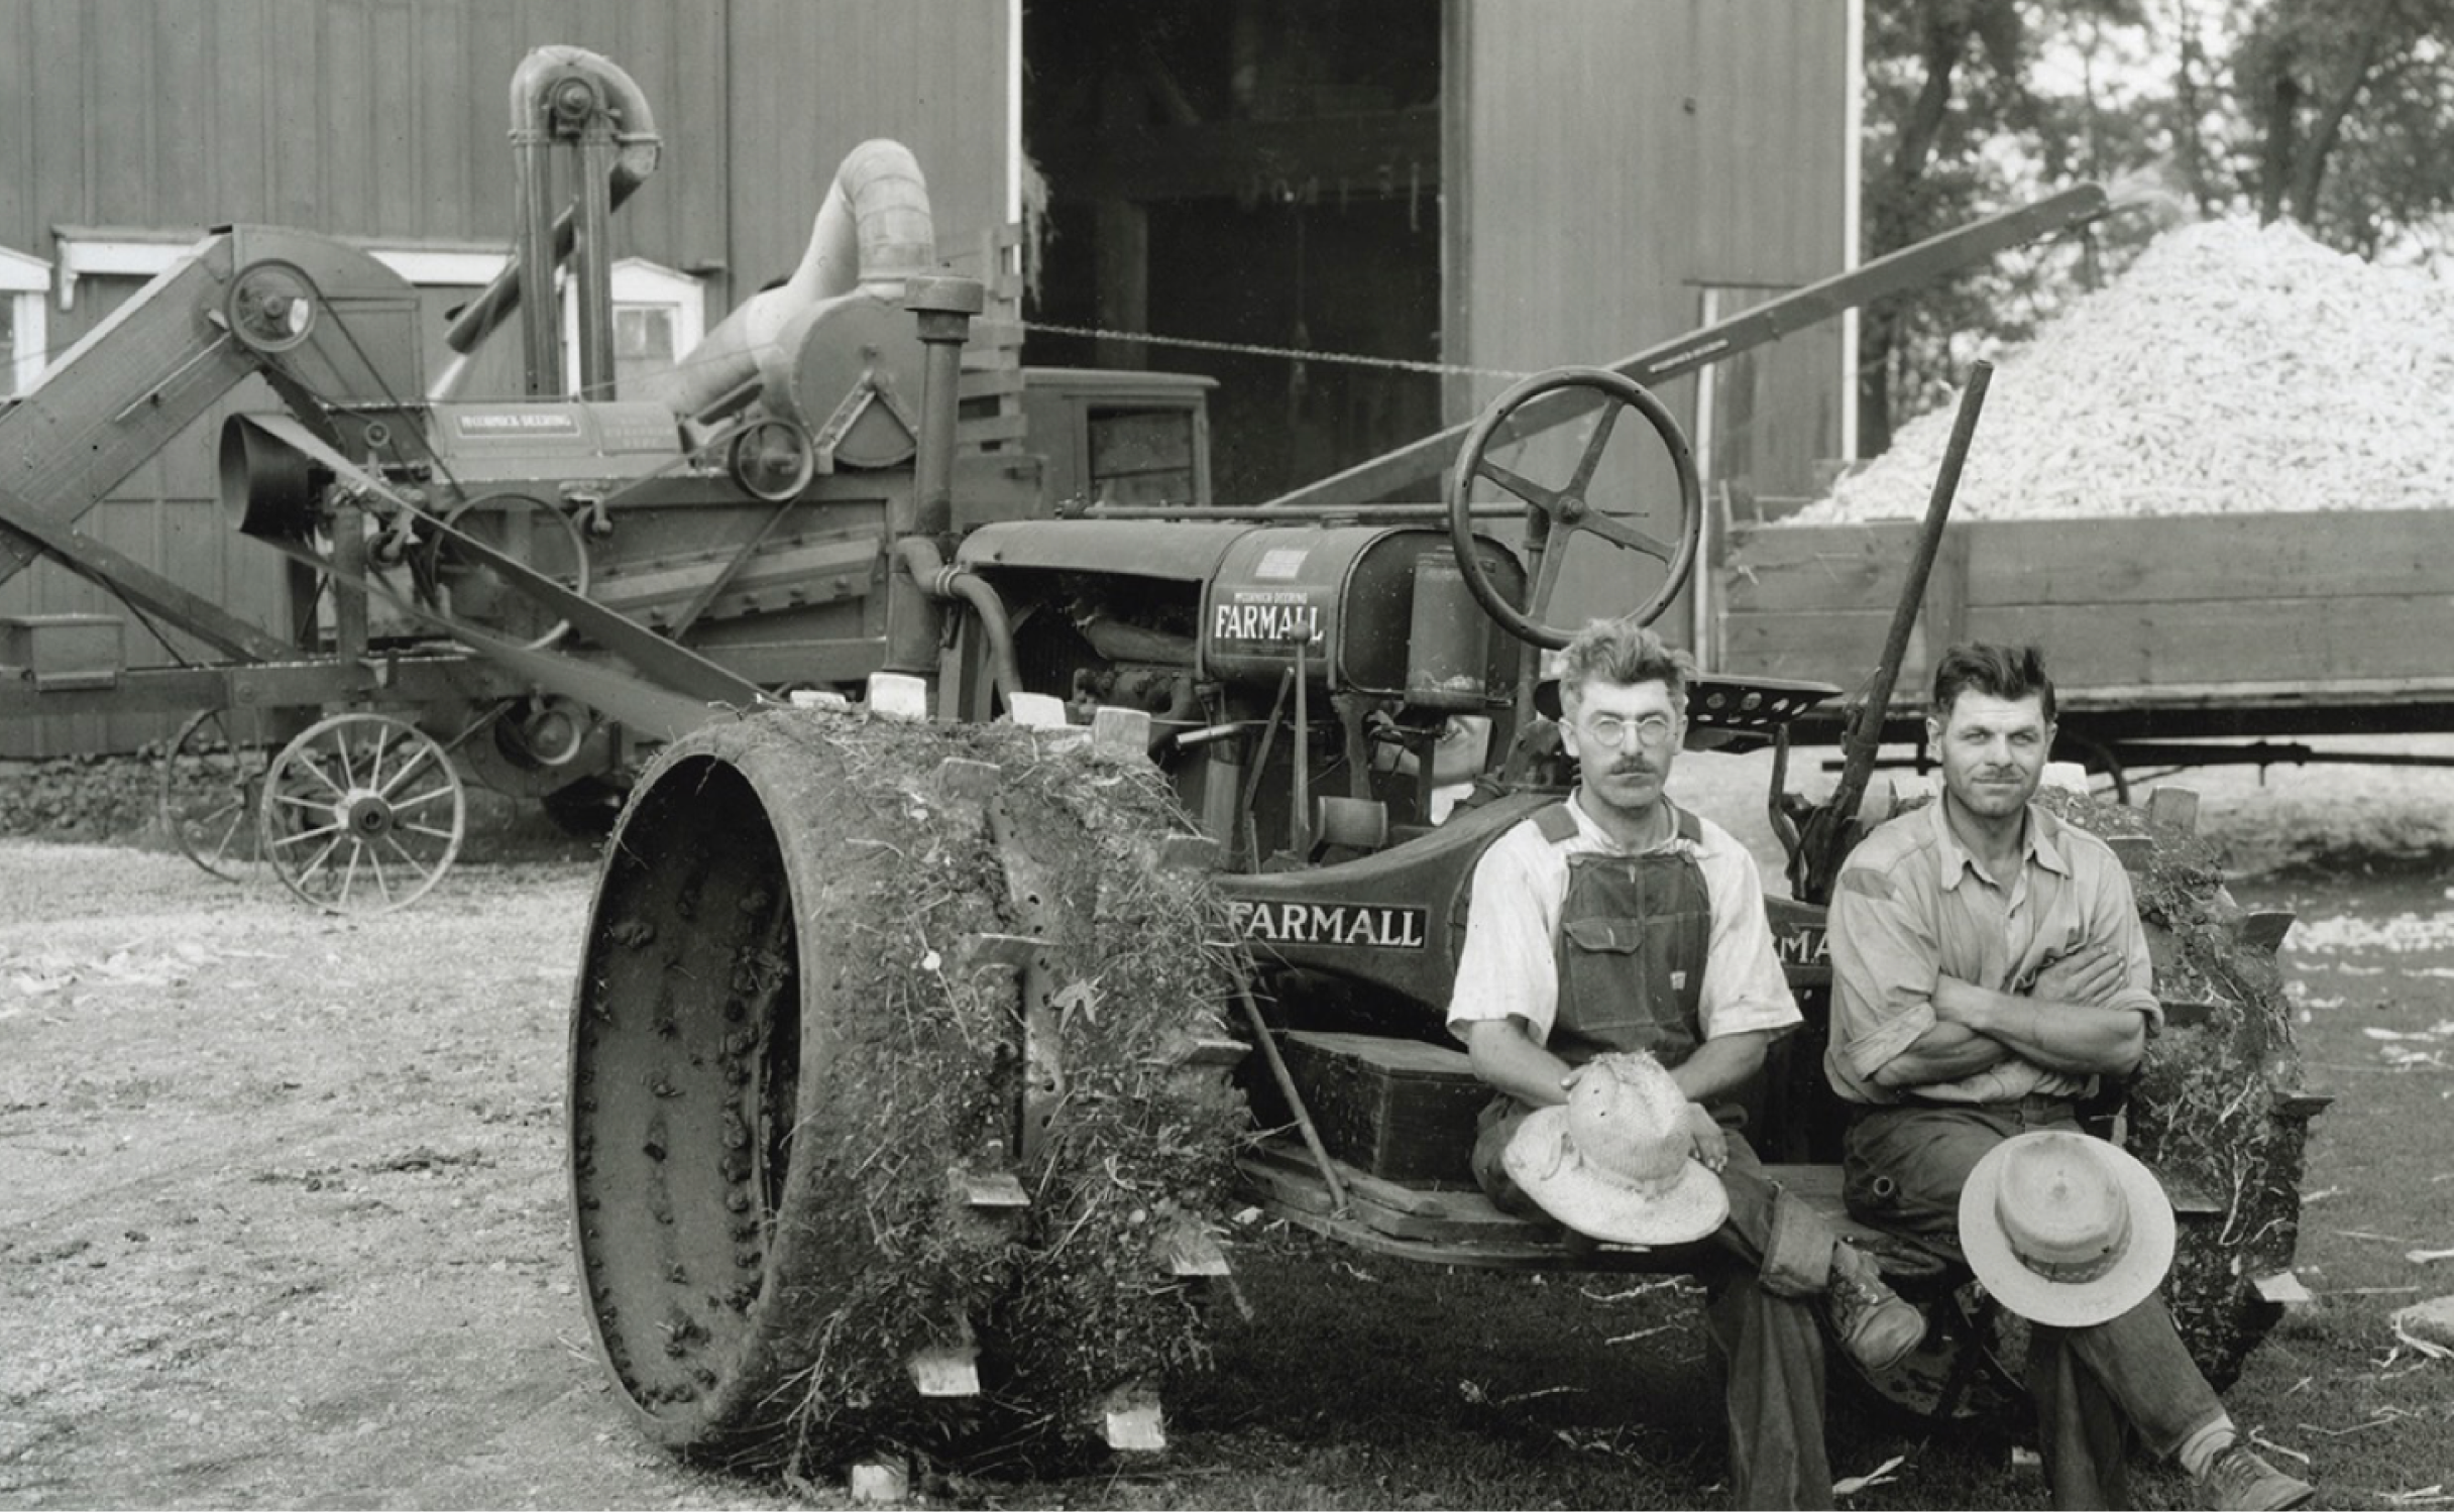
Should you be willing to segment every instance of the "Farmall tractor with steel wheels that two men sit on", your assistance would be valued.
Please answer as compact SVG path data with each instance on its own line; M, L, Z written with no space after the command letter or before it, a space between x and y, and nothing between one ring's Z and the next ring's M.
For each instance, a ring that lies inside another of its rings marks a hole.
M655 758L574 997L579 1264L640 1429L726 1460L1036 1431L1158 1446L1244 1205L1426 1264L1703 1264L1497 1213L1467 1173L1487 1095L1443 1028L1477 857L1573 781L1531 697L1573 628L1561 562L1617 552L1639 619L1696 562L1669 410L1563 368L1470 427L1438 503L989 518L947 449L969 285L856 297L925 353L883 383L920 395L910 508L879 540L893 665ZM1531 476L1509 437L1563 395L1590 422ZM1612 447L1654 449L1664 496L1593 496ZM1755 1136L1833 1215L1818 889L1887 690L1833 805L1782 793L1782 763L1767 793L1806 884L1772 916L1809 1028L1757 1090ZM1703 677L1691 744L1787 756L1836 692ZM2066 805L2137 874L2174 1024L2101 1124L2167 1178L2189 1235L2174 1308L2228 1382L2292 1294L2319 1105L2280 920L2231 903L2174 803ZM1934 1416L2017 1392L2015 1321L1860 1240L1931 1313L1870 1389Z

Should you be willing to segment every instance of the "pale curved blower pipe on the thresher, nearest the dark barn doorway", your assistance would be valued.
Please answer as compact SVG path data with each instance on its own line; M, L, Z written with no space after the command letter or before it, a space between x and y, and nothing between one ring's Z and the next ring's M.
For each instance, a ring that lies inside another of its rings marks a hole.
M798 314L854 292L896 302L906 282L935 263L937 231L920 162L903 142L861 142L834 169L793 277L734 307L670 373L653 378L653 398L675 415L707 415L758 383L763 353Z

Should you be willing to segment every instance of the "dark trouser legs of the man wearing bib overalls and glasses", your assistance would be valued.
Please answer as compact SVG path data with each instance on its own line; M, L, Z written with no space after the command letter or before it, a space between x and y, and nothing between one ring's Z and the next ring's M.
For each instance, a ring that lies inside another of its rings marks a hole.
M1475 1181L1502 1213L1553 1222L1524 1195L1499 1154L1531 1109L1509 1097L1482 1109ZM1816 1512L1833 1505L1823 1456L1823 1335L1814 1301L1831 1267L1831 1230L1787 1195L1737 1129L1723 1127L1720 1186L1730 1217L1708 1244L1728 1257L1706 1271L1706 1338L1730 1431L1737 1512ZM1782 1257L1767 1262L1767 1257Z

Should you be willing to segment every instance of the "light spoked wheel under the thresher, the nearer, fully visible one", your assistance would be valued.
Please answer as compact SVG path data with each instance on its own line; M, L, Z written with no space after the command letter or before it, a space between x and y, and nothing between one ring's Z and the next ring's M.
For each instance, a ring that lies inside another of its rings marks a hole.
M383 913L425 896L466 825L452 758L390 714L319 719L265 771L263 854L324 913Z

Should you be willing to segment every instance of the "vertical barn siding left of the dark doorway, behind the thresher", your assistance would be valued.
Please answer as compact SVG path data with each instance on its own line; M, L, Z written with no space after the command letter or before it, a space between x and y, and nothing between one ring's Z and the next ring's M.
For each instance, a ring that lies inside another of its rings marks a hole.
M800 260L837 162L874 135L920 157L940 253L969 268L1004 216L1006 15L1006 0L0 0L0 245L56 258L64 223L233 221L508 243L510 76L569 42L626 69L663 135L614 221L616 255L704 270L709 319ZM52 349L135 287L86 280L74 312L52 309ZM437 326L429 371L439 356ZM223 415L265 407L260 385L233 393L86 528L270 623L280 560L226 528L213 479ZM0 614L69 611L118 606L49 562L0 584ZM128 648L169 660L137 621ZM37 719L0 729L0 756L164 729Z

